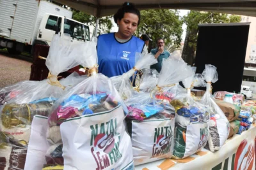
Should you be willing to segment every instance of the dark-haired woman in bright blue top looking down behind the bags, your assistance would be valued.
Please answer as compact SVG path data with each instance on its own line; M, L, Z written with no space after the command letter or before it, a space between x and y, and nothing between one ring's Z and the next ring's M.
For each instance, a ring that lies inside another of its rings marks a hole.
M132 3L124 3L114 15L118 32L101 34L97 53L99 73L112 77L122 75L135 66L135 53L143 52L145 42L133 36L140 24L140 11Z

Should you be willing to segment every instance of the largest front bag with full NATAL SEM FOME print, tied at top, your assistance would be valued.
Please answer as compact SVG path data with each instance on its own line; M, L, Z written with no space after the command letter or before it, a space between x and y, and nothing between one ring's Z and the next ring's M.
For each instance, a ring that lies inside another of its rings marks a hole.
M127 108L109 78L97 73L96 42L76 49L77 60L88 68L90 76L52 106L45 167L134 167L131 140L124 126Z

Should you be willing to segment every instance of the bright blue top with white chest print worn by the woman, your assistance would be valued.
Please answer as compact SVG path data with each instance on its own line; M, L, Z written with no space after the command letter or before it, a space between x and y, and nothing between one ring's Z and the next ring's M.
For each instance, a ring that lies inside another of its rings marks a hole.
M143 51L144 41L132 36L129 41L120 43L115 33L102 34L98 38L97 54L99 73L105 76L119 76L135 65L135 53Z

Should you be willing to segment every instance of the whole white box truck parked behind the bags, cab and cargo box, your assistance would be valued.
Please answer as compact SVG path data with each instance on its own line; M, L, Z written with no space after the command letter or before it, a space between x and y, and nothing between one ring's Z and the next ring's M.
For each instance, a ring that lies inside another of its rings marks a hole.
M35 44L51 45L52 36L70 34L72 42L90 40L88 25L70 19L72 11L43 0L0 0L0 48L31 52Z

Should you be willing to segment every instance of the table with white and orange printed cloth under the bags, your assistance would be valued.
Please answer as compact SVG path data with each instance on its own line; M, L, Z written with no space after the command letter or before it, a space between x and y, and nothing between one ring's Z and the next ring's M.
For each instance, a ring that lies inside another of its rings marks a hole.
M203 149L186 159L163 159L136 166L136 170L233 170L255 169L256 126L241 135L234 135L225 142L221 150L212 153Z

